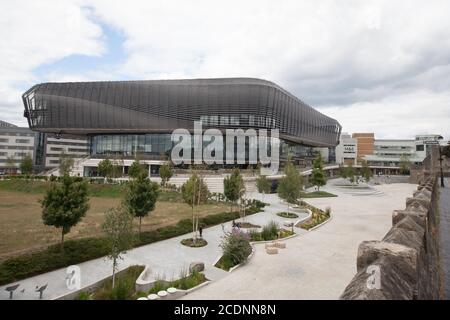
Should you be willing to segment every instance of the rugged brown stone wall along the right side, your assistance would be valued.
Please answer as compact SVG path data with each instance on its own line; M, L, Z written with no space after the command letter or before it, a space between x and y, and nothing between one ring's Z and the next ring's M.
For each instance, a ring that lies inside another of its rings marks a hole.
M363 241L341 299L439 299L438 187L430 176L392 214L381 241Z

